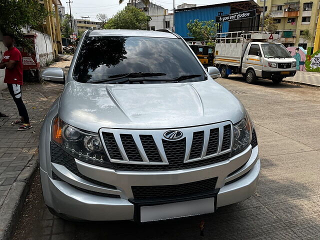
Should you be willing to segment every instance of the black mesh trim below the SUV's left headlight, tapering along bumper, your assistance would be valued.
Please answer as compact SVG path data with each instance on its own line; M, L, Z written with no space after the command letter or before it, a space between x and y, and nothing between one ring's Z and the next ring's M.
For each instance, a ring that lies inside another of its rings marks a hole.
M51 162L65 166L74 175L77 175L78 177L86 181L89 181L91 183L94 183L96 185L104 186L111 189L116 189L116 187L113 185L94 180L92 178L89 178L81 174L76 166L74 157L66 153L61 147L59 147L57 144L53 142L50 142L50 153L51 153Z

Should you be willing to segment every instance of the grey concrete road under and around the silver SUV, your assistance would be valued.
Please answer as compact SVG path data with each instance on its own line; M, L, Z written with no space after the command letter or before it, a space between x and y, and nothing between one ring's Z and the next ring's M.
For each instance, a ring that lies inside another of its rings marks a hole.
M320 89L217 81L243 102L256 127L261 173L250 198L182 219L74 223L48 212L36 175L13 239L320 239Z

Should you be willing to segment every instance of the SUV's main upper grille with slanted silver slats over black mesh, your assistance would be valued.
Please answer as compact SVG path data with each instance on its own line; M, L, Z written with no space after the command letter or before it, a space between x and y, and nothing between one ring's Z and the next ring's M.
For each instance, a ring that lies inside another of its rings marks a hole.
M230 122L176 129L178 140L161 129L101 129L105 150L117 170L177 170L227 159L231 151Z

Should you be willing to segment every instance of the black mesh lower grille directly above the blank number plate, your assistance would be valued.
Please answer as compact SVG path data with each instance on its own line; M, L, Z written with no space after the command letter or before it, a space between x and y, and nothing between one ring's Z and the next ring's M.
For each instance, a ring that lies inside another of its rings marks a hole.
M134 199L172 198L213 191L217 177L176 185L131 186Z

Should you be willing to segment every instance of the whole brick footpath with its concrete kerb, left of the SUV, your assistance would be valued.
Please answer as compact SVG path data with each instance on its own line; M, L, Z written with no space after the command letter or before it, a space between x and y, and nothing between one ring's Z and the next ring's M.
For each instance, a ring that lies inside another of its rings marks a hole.
M62 91L63 85L25 83L22 98L32 128L17 131L11 125L19 119L15 103L7 89L0 91L0 111L9 118L0 118L0 239L7 239L29 189L37 166L38 135L43 118Z

